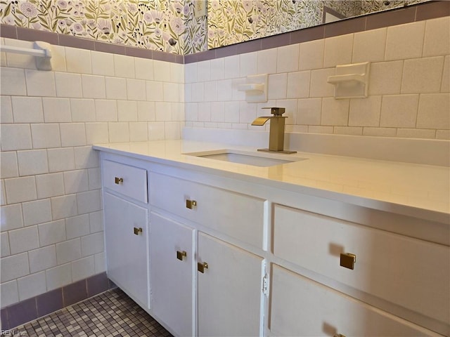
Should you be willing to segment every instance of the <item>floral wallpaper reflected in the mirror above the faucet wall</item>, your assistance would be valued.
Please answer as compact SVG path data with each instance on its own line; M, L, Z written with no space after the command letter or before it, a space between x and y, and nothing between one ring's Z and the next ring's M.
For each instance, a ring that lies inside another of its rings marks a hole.
M208 0L207 48L321 25L323 7L352 18L428 0Z

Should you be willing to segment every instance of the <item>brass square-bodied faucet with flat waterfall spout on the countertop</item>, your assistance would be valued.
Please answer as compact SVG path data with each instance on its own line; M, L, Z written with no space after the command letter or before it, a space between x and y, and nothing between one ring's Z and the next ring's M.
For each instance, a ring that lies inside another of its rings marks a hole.
M269 131L269 148L258 149L258 151L266 152L281 152L281 153L295 153L297 151L284 150L284 124L285 119L288 117L281 116L285 112L284 107L263 107L263 109L270 109L271 114L274 116L269 117L257 117L253 121L252 125L263 126L270 119L270 131Z

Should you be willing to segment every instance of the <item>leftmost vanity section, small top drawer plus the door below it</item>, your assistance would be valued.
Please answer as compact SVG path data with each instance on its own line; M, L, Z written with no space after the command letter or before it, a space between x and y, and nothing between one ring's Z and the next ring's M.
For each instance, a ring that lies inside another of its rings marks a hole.
M141 193L146 170L105 160L102 176L108 278L148 309L148 207Z

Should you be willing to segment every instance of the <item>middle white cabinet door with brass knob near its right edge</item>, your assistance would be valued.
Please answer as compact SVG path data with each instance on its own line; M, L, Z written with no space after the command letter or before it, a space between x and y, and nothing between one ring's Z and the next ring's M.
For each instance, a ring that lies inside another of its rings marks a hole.
M193 230L150 213L151 302L176 336L193 334Z

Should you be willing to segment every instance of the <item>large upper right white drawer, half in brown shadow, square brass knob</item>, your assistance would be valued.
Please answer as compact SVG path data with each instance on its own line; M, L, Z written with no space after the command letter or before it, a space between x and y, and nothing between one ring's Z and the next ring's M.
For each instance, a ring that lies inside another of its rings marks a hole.
M285 206L274 213L276 256L448 324L448 246ZM356 256L354 270L341 253Z

